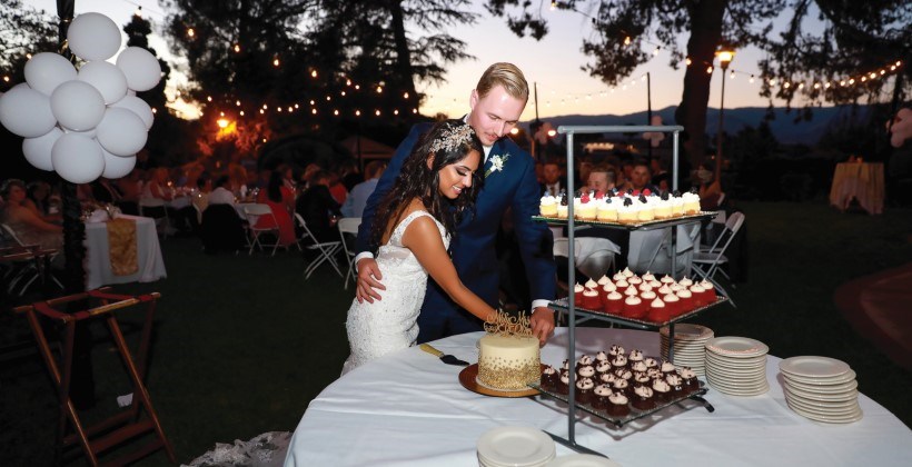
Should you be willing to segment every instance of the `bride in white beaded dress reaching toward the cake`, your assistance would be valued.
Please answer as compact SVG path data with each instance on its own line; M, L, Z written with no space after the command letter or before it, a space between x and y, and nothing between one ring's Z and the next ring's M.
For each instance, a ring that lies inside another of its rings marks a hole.
M434 125L403 162L370 232L371 244L380 245L377 265L386 292L374 302L353 300L346 322L351 354L343 375L415 345L428 276L478 318L495 312L463 285L447 252L448 232L474 210L484 180L476 173L482 151L472 127L446 120Z

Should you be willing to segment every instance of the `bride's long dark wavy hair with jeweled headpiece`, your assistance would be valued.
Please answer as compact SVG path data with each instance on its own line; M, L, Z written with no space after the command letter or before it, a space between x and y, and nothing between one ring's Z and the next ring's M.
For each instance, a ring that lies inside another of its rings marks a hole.
M460 132L464 135L466 129L468 138L454 137ZM457 141L458 145L454 145ZM435 151L435 147L439 149ZM473 175L472 187L450 200L440 195L440 170L465 159L473 150L484 155L482 141L468 125L462 120L434 123L405 159L393 189L378 205L370 229L370 245L375 248L383 245L383 237L390 220L398 219L414 198L419 198L427 211L439 220L448 232L453 232L463 215L466 211L474 211L475 198L482 189L484 177L479 175L479 166ZM428 167L427 160L432 156L434 159Z

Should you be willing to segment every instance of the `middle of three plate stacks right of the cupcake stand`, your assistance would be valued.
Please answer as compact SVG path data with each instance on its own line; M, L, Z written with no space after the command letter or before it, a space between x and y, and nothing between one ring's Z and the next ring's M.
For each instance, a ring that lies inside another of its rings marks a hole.
M746 337L716 337L706 342L706 381L731 396L759 396L770 390L766 352L770 347Z

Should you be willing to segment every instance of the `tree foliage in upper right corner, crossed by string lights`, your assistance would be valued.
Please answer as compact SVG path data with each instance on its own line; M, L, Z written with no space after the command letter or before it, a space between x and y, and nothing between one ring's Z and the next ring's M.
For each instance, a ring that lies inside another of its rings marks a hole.
M792 11L785 30L764 44L770 58L760 63L769 78L763 96L790 105L803 97L805 109L862 98L874 103L891 96L895 112L912 83L912 69L902 63L912 56L912 3L793 0ZM891 76L892 92L884 93Z

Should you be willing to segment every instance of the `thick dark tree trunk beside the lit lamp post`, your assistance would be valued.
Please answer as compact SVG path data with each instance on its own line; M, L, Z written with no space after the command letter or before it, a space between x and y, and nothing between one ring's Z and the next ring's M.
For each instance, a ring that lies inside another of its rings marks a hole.
M691 38L687 40L687 57L691 58L691 66L684 73L684 93L674 115L675 121L684 127L683 146L692 167L700 165L706 151L706 107L712 80L706 67L713 63L716 46L722 38L722 19L727 1L704 0L698 3L688 7Z

